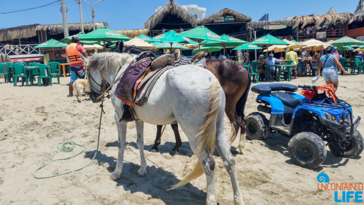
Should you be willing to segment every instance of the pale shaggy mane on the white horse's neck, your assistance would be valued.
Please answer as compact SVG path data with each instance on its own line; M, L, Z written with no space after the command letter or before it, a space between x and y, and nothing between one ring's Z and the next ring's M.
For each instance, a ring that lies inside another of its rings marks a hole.
M111 71L117 70L125 61L131 63L136 55L118 52L99 52L91 55L88 60L87 67L99 71L103 76L110 75Z

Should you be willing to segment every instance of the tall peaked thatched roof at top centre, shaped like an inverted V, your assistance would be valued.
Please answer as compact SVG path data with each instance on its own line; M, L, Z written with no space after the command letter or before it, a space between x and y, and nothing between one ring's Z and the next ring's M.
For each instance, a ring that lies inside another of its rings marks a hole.
M192 27L197 27L197 19L173 0L169 0L167 4L165 4L153 16L151 16L144 23L144 27L149 30L153 29L157 23L161 22L162 19L169 13L181 18L187 23L190 23Z

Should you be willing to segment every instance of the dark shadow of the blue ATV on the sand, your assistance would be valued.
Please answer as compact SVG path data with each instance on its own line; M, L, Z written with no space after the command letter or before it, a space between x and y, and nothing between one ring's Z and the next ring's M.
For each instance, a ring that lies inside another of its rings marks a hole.
M281 154L283 154L285 157L288 157L285 161L285 163L294 165L292 160L290 159L290 155L288 153L288 142L291 138L283 136L279 133L271 133L265 140L265 147L267 147L270 150L277 151ZM321 171L323 167L328 168L337 168L341 166L345 166L348 162L348 159L343 159L341 157L337 157L334 154L331 153L328 147L327 149L327 156L325 161L318 167L314 168L313 171Z

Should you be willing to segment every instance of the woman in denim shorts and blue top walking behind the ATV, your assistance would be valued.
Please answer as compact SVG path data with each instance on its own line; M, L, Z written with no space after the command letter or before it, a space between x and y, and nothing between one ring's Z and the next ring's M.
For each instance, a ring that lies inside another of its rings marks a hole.
M332 47L326 48L326 55L323 55L320 59L320 63L317 68L317 73L320 73L322 68L322 76L326 82L326 85L332 84L336 92L339 86L339 77L337 74L337 68L343 71L344 75L347 75L347 71L340 64L339 60L332 54Z

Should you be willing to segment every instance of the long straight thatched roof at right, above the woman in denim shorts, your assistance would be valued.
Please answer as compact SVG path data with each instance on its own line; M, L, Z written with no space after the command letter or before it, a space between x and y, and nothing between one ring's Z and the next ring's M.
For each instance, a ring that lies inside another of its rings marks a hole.
M336 13L336 14L324 14L324 15L310 15L310 16L296 16L292 17L296 19L296 24L293 28L300 26L305 28L306 26L319 27L323 24L350 24L355 20L354 14L351 13Z

